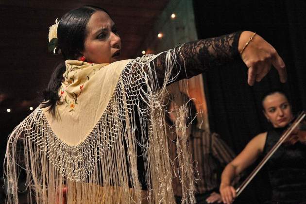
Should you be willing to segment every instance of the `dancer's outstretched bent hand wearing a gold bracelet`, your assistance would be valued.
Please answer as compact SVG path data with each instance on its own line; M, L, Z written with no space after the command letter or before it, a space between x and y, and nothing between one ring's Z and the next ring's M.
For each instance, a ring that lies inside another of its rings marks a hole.
M253 32L244 31L241 33L238 44L240 52L253 35ZM271 66L277 69L280 81L285 83L287 80L286 66L277 51L265 41L261 36L256 34L241 55L241 59L249 68L248 84L254 85L255 80L261 81L262 78L270 71Z

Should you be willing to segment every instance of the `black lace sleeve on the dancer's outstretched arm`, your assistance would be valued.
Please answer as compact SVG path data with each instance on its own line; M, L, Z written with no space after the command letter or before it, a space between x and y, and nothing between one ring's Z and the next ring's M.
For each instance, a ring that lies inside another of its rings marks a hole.
M226 34L175 47L176 60L181 67L172 69L172 75L177 75L175 81L193 77L209 68L229 63L237 58L239 56L238 40L240 34L241 32ZM163 52L154 60L159 85L164 81L166 55L167 52Z

